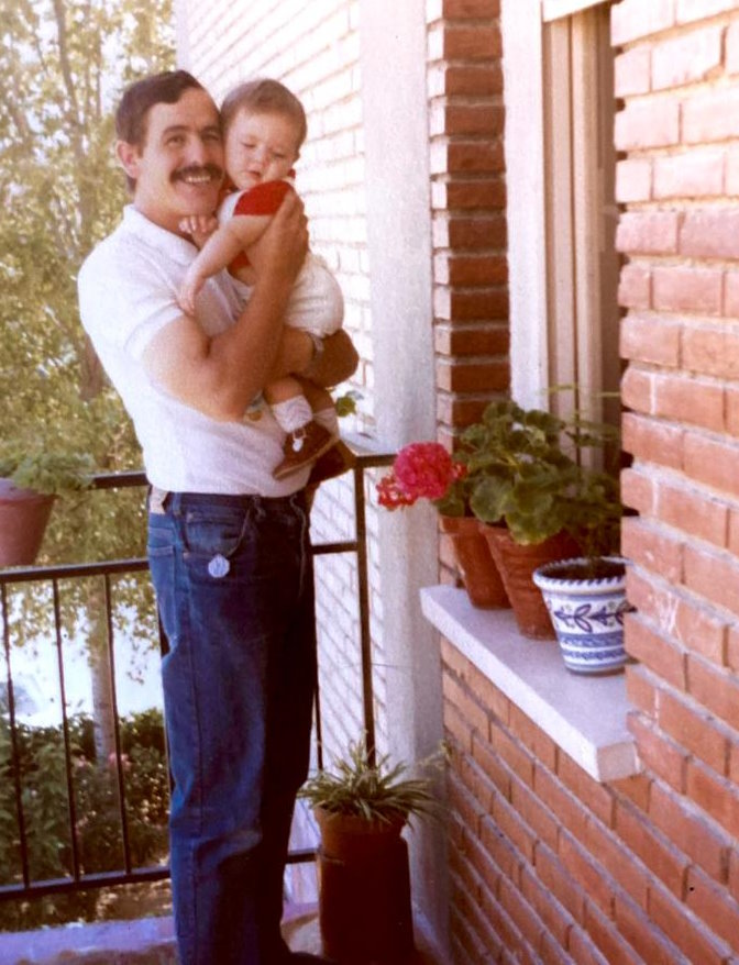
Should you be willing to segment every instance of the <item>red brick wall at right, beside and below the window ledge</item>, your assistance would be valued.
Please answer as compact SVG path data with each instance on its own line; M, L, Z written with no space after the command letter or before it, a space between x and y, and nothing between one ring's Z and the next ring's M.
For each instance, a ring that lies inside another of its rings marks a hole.
M597 784L444 644L455 963L739 961L735 8L611 13L644 769Z

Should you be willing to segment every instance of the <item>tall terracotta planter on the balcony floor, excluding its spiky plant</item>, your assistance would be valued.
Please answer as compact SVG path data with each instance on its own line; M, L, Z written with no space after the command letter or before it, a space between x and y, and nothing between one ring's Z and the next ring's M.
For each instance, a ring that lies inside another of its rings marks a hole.
M405 822L385 824L316 809L319 924L339 965L406 962L413 951Z

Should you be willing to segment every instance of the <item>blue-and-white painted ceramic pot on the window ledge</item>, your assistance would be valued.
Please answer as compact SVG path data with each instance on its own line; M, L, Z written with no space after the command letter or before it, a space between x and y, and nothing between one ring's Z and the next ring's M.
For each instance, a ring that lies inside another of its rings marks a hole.
M562 576L573 565L586 565L582 558L549 563L533 574L551 614L564 665L576 674L613 673L627 662L624 614L633 607L626 599L626 561L615 556L607 559L618 565L618 575L593 579Z

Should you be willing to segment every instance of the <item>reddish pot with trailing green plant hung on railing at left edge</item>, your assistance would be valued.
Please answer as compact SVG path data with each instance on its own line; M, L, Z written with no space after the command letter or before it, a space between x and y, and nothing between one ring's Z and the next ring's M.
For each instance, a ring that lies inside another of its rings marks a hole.
M87 454L0 443L0 566L32 565L57 496L89 486Z

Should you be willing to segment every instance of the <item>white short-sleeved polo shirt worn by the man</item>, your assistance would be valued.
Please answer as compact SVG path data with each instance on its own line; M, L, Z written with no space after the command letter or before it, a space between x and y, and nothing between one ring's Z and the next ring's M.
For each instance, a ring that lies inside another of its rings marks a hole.
M197 248L132 206L82 265L79 308L108 376L123 399L144 456L148 480L173 492L287 496L305 486L308 469L272 477L284 433L268 407L257 421L219 422L157 388L142 364L144 348L183 318L177 291ZM238 317L225 273L209 278L197 301L203 331L216 335Z

